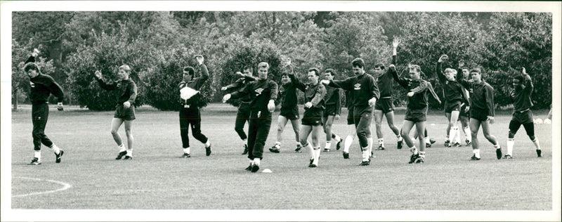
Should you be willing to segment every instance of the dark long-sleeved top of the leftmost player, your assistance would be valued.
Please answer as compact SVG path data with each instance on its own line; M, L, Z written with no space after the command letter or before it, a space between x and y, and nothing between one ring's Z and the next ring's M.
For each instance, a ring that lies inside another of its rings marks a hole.
M35 58L33 56L25 60L25 64L34 62ZM63 103L65 98L63 88L48 74L41 74L39 72L36 77L30 78L30 86L30 100L32 104L46 103L51 93L57 97L58 103Z

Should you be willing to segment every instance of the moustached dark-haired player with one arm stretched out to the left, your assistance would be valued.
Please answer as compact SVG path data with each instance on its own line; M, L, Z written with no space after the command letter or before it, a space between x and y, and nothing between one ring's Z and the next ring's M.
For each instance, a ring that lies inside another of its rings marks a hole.
M371 137L371 122L373 106L379 98L379 87L374 78L365 72L365 62L361 58L352 61L355 77L345 80L322 80L328 86L338 87L347 91L353 91L353 120L355 131L359 138L362 151L361 166L370 164L370 145L368 138Z

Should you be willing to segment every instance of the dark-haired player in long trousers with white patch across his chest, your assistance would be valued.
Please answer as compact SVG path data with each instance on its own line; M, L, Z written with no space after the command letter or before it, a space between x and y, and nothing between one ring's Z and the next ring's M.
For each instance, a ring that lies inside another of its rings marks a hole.
M191 125L192 136L205 144L205 155L211 155L211 142L207 136L201 133L201 111L199 110L199 103L201 100L201 93L199 90L207 79L209 79L209 71L207 66L202 63L202 57L196 57L200 62L201 76L195 77L195 70L193 67L185 67L183 69L183 81L178 84L178 90L182 91L184 88L188 88L192 91L190 95L181 96L181 109L180 115L180 133L181 133L181 143L183 146L182 157L191 157L190 146L189 146L189 128ZM184 90L188 90L184 89Z

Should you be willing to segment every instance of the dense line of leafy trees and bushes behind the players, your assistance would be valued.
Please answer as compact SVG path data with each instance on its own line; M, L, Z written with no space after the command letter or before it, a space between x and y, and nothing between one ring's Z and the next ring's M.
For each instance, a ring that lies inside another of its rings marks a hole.
M332 68L336 79L344 79L353 75L353 58L363 58L371 73L374 64L390 63L391 41L400 38L398 70L420 65L438 92L443 87L436 62L447 54L445 67L456 68L459 60L480 67L499 106L511 103L511 79L522 67L535 84L535 108L551 104L551 13L51 11L12 16L13 103L28 100L29 77L22 63L33 48L41 51L41 72L65 89L65 103L111 110L111 92L100 90L93 72L111 79L119 65L127 64L138 84L135 105L179 110L176 86L182 68L195 67L196 54L204 55L209 67L211 81L202 87L209 103L221 100L221 86L235 81L234 73L245 65L266 61L270 77L279 81L282 63L290 58L303 80L310 67ZM405 91L394 89L395 105L405 105ZM430 106L443 108L436 101Z

